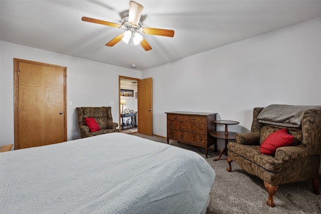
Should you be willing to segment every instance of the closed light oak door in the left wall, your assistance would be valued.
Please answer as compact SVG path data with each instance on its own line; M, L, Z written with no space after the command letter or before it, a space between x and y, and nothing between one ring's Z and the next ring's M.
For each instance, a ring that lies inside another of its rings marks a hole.
M14 59L15 149L67 141L66 67Z

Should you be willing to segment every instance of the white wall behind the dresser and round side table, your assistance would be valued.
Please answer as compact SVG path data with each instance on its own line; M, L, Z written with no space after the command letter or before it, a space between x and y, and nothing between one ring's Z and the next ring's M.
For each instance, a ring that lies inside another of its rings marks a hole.
M153 79L153 133L167 135L169 111L217 112L240 122L230 131L249 132L254 107L321 105L320 38L317 18L143 71Z

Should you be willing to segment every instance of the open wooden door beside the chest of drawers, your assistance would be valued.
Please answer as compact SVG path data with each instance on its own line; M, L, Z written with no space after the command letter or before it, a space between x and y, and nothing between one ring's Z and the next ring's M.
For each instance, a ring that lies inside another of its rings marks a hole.
M138 80L138 133L152 135L152 78Z

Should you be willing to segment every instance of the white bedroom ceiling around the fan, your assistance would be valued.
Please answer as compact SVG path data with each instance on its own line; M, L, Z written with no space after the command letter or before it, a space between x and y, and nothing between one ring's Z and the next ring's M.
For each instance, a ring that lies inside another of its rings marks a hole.
M87 23L90 17L121 24L129 0L0 1L2 41L143 71L321 16L321 1L145 1L142 27L175 31L143 35L150 51L122 41L122 29Z

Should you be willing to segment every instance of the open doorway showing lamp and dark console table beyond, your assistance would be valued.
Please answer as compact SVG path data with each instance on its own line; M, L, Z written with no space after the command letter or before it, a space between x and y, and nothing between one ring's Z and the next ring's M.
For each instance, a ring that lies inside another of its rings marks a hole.
M123 133L136 133L137 84L138 79L119 76L119 130Z

